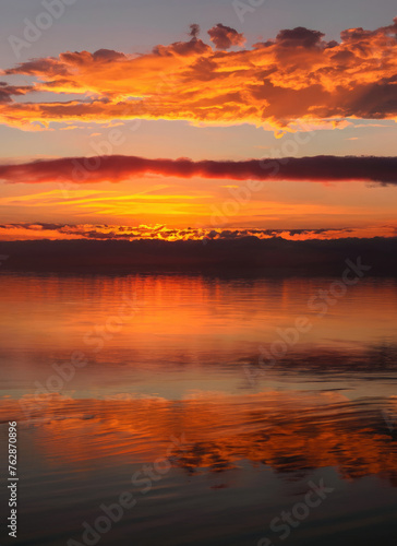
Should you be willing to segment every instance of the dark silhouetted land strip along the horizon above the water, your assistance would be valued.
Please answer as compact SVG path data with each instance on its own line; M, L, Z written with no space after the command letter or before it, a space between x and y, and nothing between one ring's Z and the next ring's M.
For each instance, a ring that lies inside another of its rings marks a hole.
M260 275L340 275L360 257L365 276L397 275L397 238L290 241L34 240L0 242L0 271L252 272ZM5 258L8 257L8 258Z

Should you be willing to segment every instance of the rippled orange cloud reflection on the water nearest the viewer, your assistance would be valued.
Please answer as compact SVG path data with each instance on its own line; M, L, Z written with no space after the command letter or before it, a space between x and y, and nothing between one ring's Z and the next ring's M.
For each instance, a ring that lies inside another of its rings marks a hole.
M29 397L22 402L28 407ZM43 399L28 423L35 448L52 464L154 461L165 456L171 438L182 437L172 461L189 473L221 472L248 460L278 473L334 466L345 479L378 474L397 486L385 408L396 415L397 399L352 403L332 392L201 393L178 402L52 396ZM10 415L21 426L27 423L19 401L3 399L0 417Z

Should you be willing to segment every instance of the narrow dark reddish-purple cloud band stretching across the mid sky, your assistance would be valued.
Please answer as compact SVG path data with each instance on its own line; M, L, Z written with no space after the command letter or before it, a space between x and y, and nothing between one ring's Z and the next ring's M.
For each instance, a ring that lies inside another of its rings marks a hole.
M143 176L230 180L368 181L397 185L397 157L315 156L241 162L148 159L110 155L64 157L22 165L0 165L0 180L11 183L119 182Z

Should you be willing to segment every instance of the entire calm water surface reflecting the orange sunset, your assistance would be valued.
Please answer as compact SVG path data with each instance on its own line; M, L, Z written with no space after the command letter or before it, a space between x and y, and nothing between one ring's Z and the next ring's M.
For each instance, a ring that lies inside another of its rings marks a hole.
M397 283L334 281L0 275L0 544L395 546Z

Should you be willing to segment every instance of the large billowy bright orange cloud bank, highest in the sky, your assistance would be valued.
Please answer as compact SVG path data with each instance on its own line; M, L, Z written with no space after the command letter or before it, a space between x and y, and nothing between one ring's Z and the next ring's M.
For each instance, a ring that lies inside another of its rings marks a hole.
M297 27L251 49L238 49L244 36L219 23L208 31L214 50L193 26L189 41L157 45L145 55L67 51L4 70L4 78L23 74L36 81L23 87L0 82L0 122L26 128L161 118L287 128L298 119L397 118L397 17L375 31L344 31L340 43ZM81 97L15 98L37 91Z

